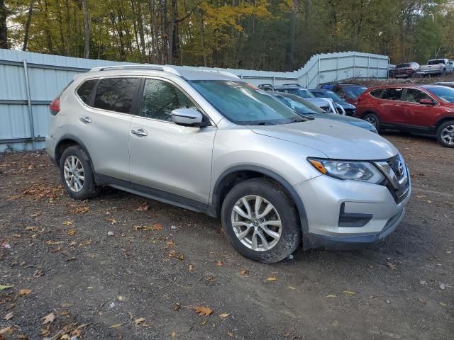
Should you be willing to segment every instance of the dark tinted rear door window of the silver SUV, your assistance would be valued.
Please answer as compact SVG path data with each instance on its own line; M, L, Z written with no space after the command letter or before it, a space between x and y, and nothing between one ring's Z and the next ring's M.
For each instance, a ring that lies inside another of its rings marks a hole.
M93 106L109 111L131 113L137 81L136 78L102 79L96 89Z

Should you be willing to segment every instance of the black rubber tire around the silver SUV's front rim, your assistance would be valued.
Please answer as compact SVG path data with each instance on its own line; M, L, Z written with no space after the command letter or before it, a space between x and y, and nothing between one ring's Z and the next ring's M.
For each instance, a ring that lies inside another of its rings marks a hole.
M282 231L279 241L271 249L262 251L250 249L236 236L232 225L232 212L238 200L245 196L265 198L279 214ZM233 247L243 256L255 261L276 263L287 258L301 244L301 226L297 208L282 187L268 179L249 179L234 186L223 200L221 220L224 232Z

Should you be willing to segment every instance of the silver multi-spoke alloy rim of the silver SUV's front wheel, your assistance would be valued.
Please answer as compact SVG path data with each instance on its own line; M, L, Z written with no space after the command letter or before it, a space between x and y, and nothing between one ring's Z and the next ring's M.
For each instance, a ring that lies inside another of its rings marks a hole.
M233 206L233 231L254 251L272 249L282 234L282 222L274 205L260 196L244 196Z

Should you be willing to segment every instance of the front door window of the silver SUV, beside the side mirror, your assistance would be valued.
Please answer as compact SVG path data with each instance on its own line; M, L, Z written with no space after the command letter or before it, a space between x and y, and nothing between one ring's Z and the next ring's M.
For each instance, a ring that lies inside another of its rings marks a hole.
M172 110L176 108L193 108L192 101L167 81L147 79L143 89L142 109L143 117L172 121Z

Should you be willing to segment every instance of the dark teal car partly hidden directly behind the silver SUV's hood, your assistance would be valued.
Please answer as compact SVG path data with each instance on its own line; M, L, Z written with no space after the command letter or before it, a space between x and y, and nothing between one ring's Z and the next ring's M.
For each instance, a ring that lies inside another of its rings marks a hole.
M377 129L375 129L375 126L366 122L365 120L348 117L346 115L338 115L337 113L326 113L318 106L315 106L309 101L306 101L306 99L295 96L294 94L282 94L279 92L270 92L270 94L279 99L279 101L282 101L282 103L287 105L289 108L292 108L292 110L294 110L296 113L304 117L337 120L338 122L350 124L357 126L358 128L363 128L368 131L378 133Z

